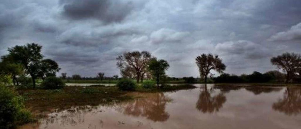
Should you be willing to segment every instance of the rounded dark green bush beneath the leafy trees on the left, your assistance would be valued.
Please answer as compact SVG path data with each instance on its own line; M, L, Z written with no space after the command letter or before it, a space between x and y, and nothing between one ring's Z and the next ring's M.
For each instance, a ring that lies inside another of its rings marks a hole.
M65 87L65 83L57 77L47 77L42 82L42 87L45 89L62 89Z

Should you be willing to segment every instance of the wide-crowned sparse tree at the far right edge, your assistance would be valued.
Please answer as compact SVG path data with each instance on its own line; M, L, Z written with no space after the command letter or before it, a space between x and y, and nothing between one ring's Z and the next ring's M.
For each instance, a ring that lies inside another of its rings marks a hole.
M301 68L301 56L295 53L283 53L271 59L271 63L286 72L285 83L288 83L295 72Z

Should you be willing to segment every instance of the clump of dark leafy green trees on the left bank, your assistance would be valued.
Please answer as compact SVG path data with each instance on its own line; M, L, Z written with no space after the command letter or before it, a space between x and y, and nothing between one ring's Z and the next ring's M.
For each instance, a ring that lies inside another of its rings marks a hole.
M8 55L2 56L1 59L8 66L7 68L12 74L13 80L16 75L25 70L33 80L33 87L36 87L36 78L42 79L48 76L55 76L60 70L58 64L51 59L43 59L41 54L42 46L36 43L28 43L24 46L14 46L8 48Z

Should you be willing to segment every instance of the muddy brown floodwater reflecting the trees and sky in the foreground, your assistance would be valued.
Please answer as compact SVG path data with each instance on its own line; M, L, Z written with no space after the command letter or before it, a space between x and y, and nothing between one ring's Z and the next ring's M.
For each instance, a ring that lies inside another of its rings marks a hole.
M300 129L301 87L215 86L75 107L20 129Z

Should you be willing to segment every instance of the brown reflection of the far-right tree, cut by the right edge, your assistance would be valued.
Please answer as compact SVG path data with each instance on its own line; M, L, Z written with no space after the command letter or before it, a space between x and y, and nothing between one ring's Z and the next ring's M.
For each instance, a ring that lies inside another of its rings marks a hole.
M272 108L286 115L298 115L301 112L301 88L287 87L283 98L278 99Z

